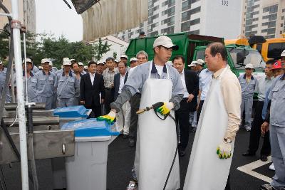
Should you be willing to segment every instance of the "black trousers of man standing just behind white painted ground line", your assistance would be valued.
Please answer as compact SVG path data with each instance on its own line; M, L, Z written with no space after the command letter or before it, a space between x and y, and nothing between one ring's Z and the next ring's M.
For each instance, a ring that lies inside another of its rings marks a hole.
M249 152L255 153L257 152L257 149L259 148L259 139L261 135L260 127L264 120L262 119L262 108L263 108L264 102L258 101L257 106L255 107L254 112L254 121L252 122L252 130L250 131L250 137L249 137ZM269 132L266 132L264 134L264 141L261 147L260 154L268 156L270 154L271 147L270 147L270 141L269 141Z

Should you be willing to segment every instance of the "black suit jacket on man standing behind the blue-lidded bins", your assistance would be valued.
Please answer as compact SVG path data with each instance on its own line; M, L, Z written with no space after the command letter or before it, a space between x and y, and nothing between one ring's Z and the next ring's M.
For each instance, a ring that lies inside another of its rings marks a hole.
M105 98L105 87L103 75L95 73L93 85L90 80L89 73L81 77L81 101L85 101L85 106L88 108L100 106L100 93L101 98Z

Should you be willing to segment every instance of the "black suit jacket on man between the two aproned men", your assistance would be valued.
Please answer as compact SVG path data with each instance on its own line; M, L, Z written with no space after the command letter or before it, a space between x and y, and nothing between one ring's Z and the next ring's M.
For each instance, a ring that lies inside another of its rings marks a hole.
M193 70L184 70L185 84L189 94L194 95L190 102L190 112L195 112L197 107L197 95L199 93L199 77Z

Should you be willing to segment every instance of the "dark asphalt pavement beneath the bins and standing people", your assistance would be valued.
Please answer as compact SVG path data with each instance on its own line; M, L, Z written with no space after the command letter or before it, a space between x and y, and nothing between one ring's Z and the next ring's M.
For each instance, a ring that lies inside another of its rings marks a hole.
M180 158L181 186L184 184L185 174L187 171L187 165L190 157L190 147L192 147L193 139L194 134L191 133L190 144L187 148L187 154L185 157ZM259 160L259 154L257 154L256 157L242 157L242 152L247 150L248 142L249 132L240 130L237 135L232 169L230 171L232 190L255 190L259 189L259 186L261 184L266 183L261 179L258 179L254 176L245 174L244 172L237 170L238 167L242 167L245 164L249 164ZM118 137L112 142L112 144L110 144L108 152L108 189L125 189L126 185L128 184L128 181L131 179L130 170L132 169L134 154L135 149L128 147L128 139ZM51 160L38 160L36 164L38 169L38 180L40 189L52 189ZM274 171L270 171L268 167L269 164L266 164L262 167L254 169L254 171L259 174L271 177L274 175ZM21 189L21 174L19 163L12 164L11 168L8 165L4 165L1 168L3 170L4 179L6 182L6 189ZM1 171L0 177L3 181Z

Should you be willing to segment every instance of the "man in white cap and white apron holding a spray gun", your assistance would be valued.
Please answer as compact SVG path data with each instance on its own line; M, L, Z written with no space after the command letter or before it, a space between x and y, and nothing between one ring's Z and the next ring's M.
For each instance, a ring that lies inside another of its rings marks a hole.
M122 93L111 104L108 115L98 117L98 120L113 121L115 112L140 90L142 97L140 109L149 107L156 102L164 102L157 111L165 115L180 108L183 97L183 86L180 75L175 68L165 64L170 59L172 50L177 50L171 39L160 36L155 39L153 60L138 65L129 76ZM138 137L135 152L135 172L138 176L140 190L163 189L167 174L170 171L172 159L177 144L175 122L167 117L160 120L153 110L144 112L138 118ZM180 188L179 159L176 157L167 190Z

